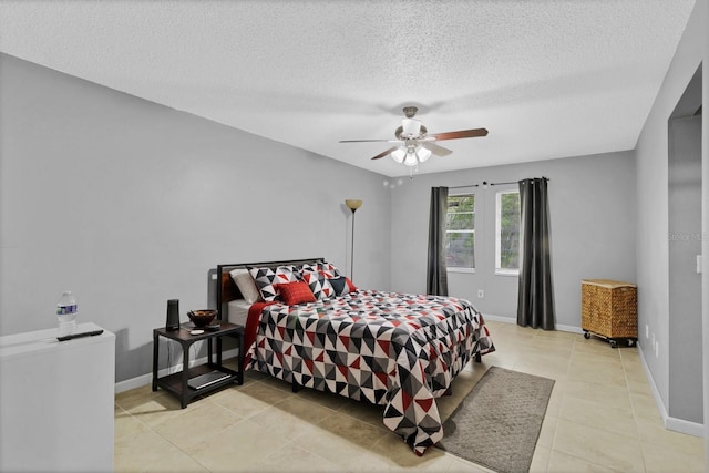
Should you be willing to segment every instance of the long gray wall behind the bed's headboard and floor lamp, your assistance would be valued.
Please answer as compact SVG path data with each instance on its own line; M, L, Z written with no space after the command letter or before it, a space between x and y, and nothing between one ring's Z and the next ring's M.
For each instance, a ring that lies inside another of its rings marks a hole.
M389 287L381 175L0 55L0 335L79 321L116 333L116 381L151 371L166 299L204 308L220 263L325 256ZM277 120L277 117L274 117Z

